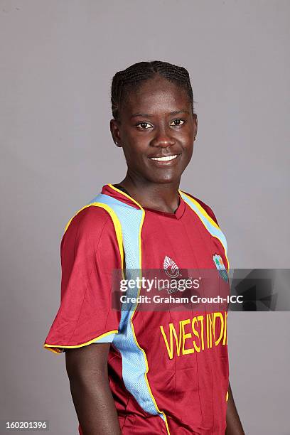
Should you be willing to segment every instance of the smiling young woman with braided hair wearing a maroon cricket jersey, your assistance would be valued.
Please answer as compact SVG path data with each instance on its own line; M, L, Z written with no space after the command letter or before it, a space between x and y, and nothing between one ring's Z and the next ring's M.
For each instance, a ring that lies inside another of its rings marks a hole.
M65 351L80 434L242 435L226 311L203 316L190 304L119 311L112 301L115 269L124 276L161 269L171 278L213 269L228 285L227 245L213 211L179 190L198 127L187 70L154 61L116 73L112 114L127 174L67 225L61 304L44 347Z

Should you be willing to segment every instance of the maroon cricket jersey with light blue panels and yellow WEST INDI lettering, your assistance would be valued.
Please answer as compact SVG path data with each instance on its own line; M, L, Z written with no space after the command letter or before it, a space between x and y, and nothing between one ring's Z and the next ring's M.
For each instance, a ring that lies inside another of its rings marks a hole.
M166 213L107 184L68 222L60 245L60 307L43 347L111 343L109 386L125 435L225 434L227 306L196 306L190 291L182 300L166 286L154 297L135 286L128 294L136 299L120 292L116 303L116 271L124 283L136 271L159 270L178 283L201 271L199 296L229 294L227 242L213 210L182 190L179 199ZM214 276L208 286L203 271Z

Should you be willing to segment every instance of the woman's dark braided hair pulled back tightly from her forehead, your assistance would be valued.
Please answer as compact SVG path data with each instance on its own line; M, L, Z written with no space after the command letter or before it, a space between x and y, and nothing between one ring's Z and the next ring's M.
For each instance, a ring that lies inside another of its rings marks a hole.
M166 78L178 87L186 90L193 112L193 90L186 68L172 63L154 60L139 62L130 65L126 70L118 71L112 78L111 102L112 115L119 120L120 107L131 90L136 90L144 80L154 78L156 75ZM194 114L194 112L193 112Z

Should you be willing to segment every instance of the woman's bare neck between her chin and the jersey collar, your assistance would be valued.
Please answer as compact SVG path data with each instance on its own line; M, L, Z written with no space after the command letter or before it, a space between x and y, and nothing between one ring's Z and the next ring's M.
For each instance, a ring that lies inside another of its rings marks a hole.
M142 207L154 208L154 210L166 213L175 213L179 205L179 181L178 183L151 183L127 176L119 183L123 186L131 198Z

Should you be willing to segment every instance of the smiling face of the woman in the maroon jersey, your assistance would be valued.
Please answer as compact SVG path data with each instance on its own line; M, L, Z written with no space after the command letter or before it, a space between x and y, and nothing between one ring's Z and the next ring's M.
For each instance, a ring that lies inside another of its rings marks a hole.
M129 92L111 132L122 146L131 178L142 183L179 183L193 154L197 119L186 90L163 77Z

